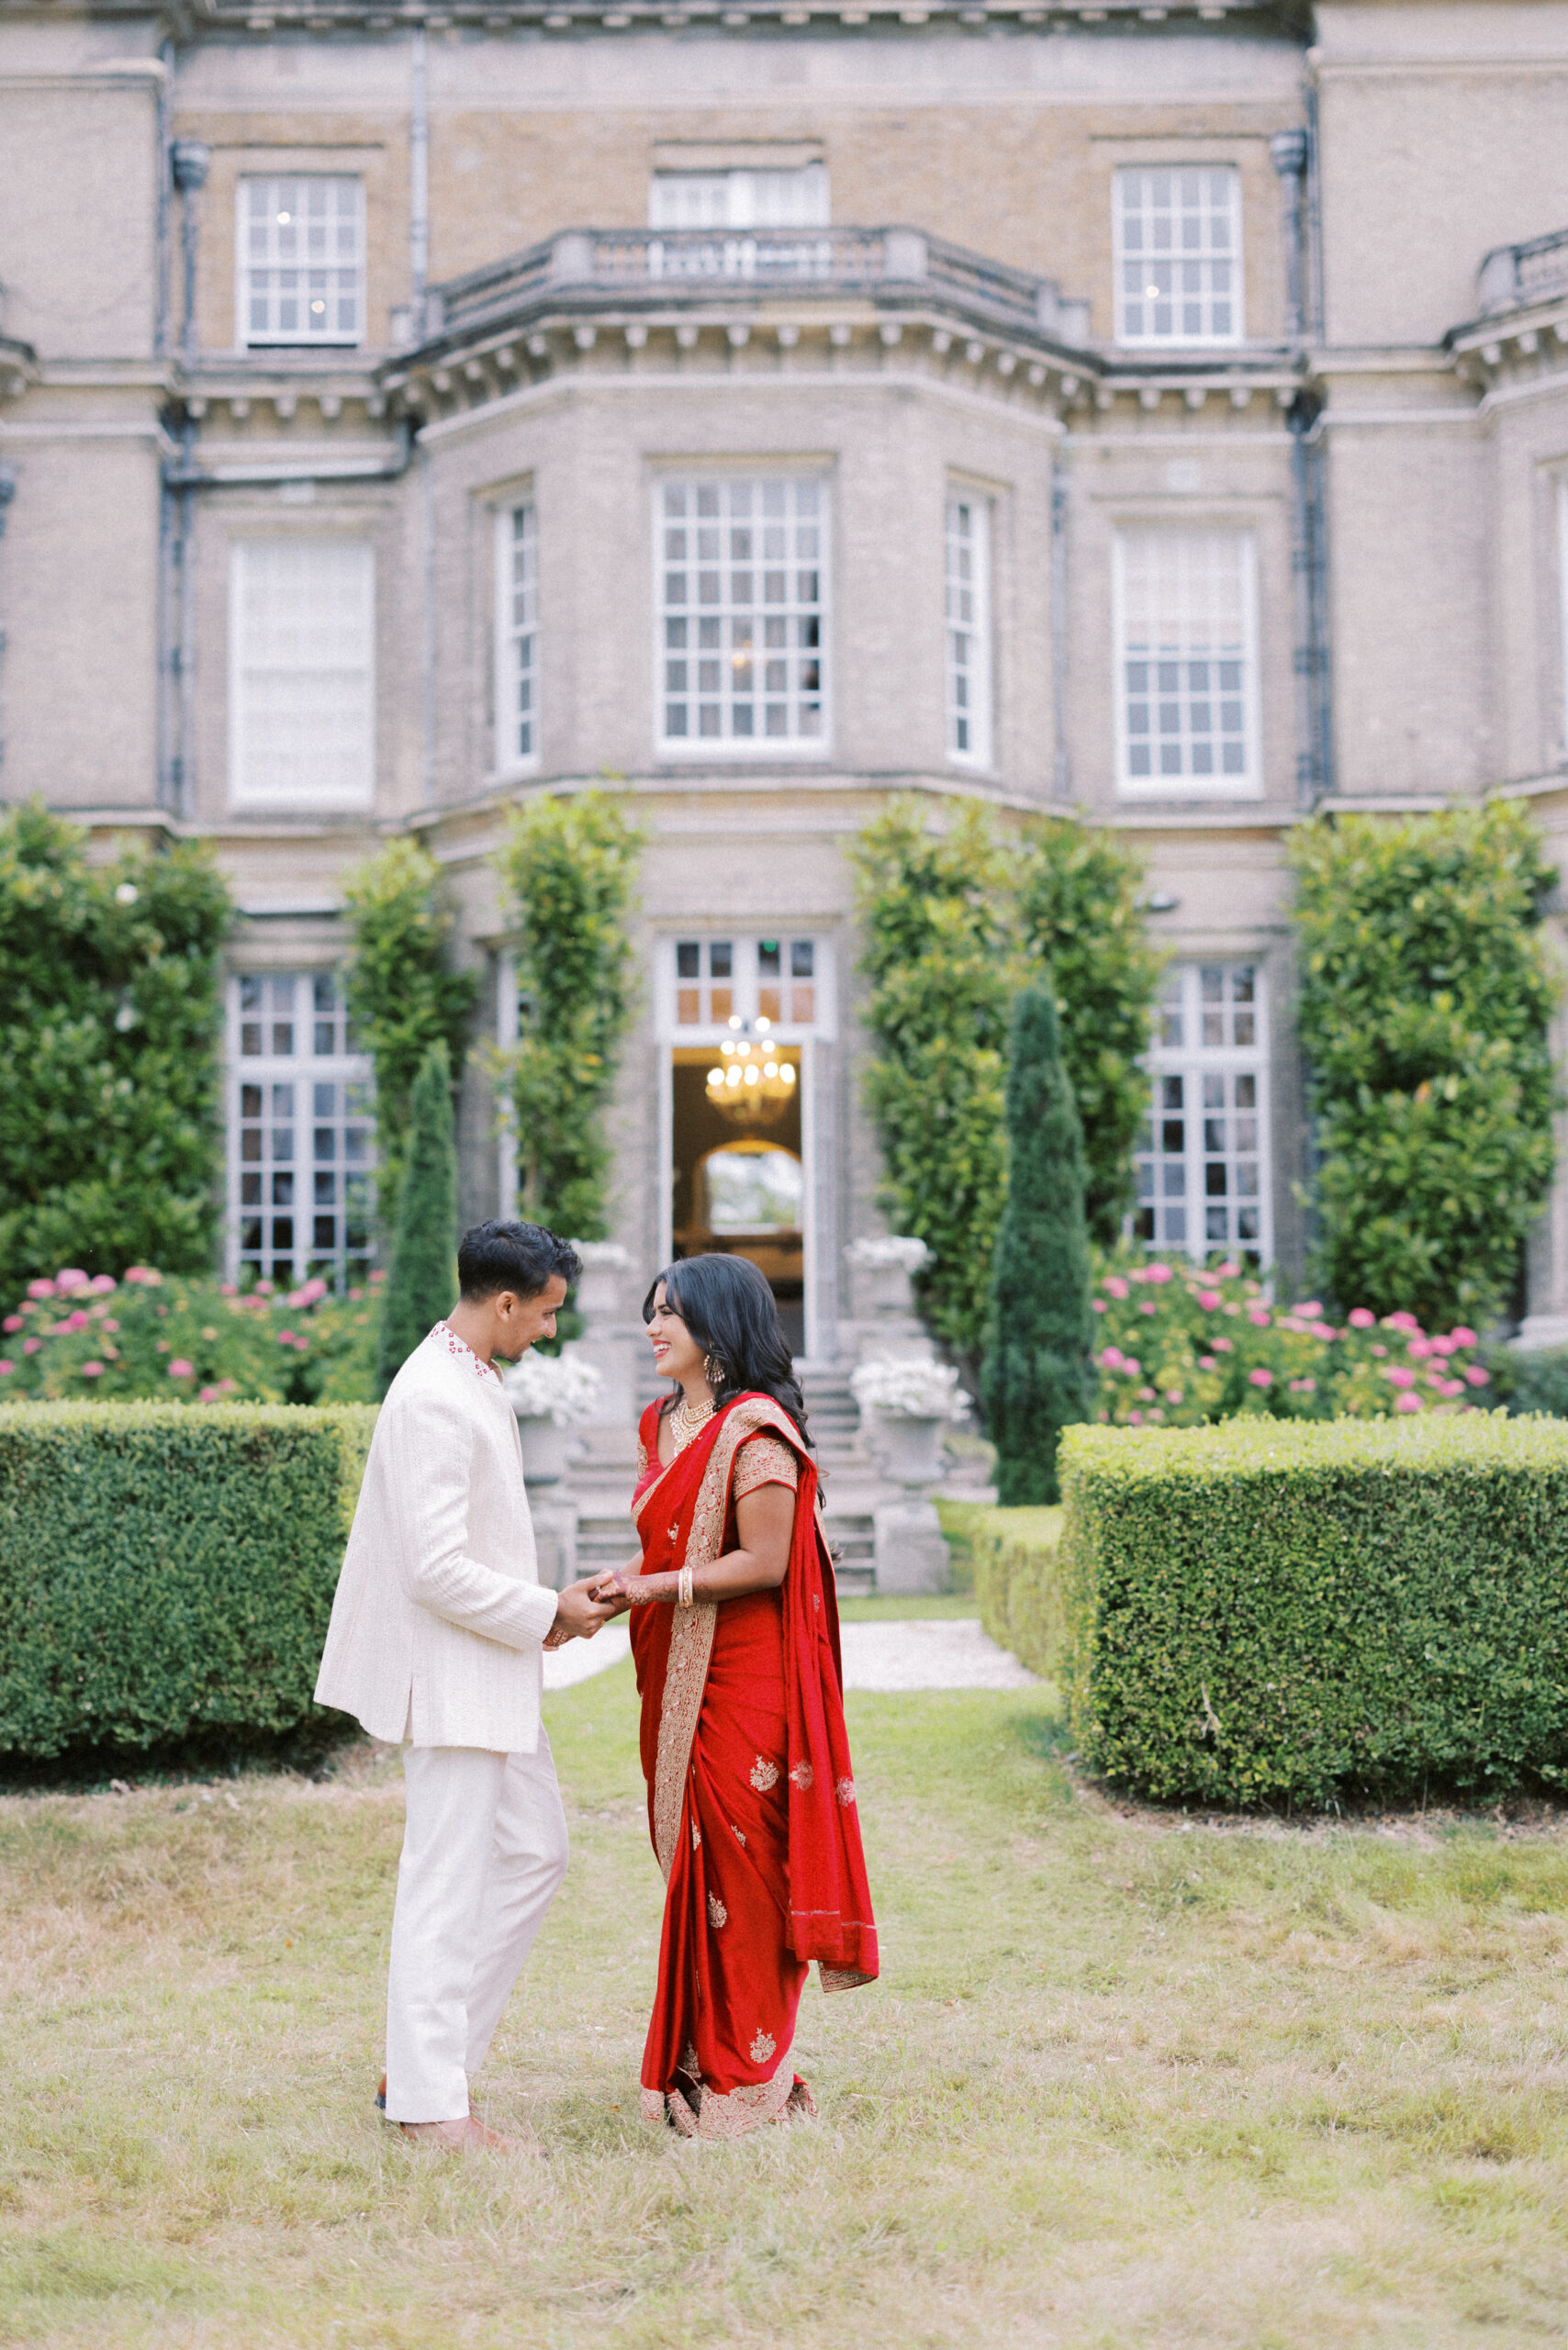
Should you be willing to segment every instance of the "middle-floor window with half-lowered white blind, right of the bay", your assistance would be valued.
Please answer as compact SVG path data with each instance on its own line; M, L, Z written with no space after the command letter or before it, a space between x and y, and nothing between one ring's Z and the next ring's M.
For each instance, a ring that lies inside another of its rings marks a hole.
M1251 531L1117 531L1112 634L1124 792L1260 790L1255 573Z

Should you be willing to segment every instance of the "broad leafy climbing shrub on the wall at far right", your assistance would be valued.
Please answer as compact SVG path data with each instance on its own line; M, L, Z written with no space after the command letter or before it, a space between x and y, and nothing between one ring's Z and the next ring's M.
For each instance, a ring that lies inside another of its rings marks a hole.
M1300 1039L1321 1278L1488 1323L1552 1187L1552 872L1516 801L1298 827Z

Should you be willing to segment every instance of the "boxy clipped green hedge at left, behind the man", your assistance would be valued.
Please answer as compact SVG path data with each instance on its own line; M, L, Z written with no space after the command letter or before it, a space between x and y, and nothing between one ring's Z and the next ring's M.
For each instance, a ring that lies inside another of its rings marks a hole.
M315 1713L364 1405L0 1408L0 1753Z

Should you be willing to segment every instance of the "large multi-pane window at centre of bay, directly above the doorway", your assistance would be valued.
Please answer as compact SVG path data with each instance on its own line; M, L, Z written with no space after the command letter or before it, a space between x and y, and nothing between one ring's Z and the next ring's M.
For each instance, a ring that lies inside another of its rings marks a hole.
M661 482L658 747L778 757L827 745L827 484Z

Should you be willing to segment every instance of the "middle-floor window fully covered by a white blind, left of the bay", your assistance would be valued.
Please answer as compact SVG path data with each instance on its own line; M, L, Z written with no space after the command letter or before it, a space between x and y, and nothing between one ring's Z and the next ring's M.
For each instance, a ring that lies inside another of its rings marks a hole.
M369 808L376 552L364 538L240 538L228 571L228 794Z

